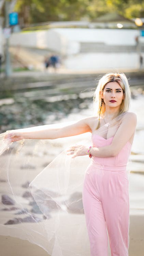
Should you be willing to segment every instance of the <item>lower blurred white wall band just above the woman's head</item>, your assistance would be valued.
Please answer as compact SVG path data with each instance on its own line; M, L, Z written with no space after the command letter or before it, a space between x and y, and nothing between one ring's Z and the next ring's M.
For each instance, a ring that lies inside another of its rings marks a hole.
M139 68L139 57L136 53L85 53L69 56L64 65L71 70L129 70Z

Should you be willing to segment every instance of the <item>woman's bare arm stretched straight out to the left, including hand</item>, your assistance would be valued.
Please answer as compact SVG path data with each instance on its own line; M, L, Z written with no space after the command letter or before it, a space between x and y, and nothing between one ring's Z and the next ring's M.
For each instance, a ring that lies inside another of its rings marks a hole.
M83 118L74 124L62 128L54 128L55 125L43 125L24 129L9 131L5 138L11 141L21 139L57 139L62 137L75 136L85 132L91 132L91 117Z

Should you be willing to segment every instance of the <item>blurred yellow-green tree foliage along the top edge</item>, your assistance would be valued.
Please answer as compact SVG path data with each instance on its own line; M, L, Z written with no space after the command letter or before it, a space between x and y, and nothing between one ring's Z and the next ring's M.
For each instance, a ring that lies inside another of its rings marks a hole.
M110 12L126 18L144 17L144 0L17 0L15 11L24 23L95 20Z

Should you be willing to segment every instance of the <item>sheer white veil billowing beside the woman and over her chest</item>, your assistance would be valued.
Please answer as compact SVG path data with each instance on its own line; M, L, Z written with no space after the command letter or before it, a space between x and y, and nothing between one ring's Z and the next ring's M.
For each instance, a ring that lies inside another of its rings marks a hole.
M95 131L114 136L126 113ZM58 125L54 125L56 127ZM0 234L27 239L52 256L87 256L82 189L88 156L71 158L73 144L92 145L91 133L11 143L0 135ZM129 179L130 170L127 169Z

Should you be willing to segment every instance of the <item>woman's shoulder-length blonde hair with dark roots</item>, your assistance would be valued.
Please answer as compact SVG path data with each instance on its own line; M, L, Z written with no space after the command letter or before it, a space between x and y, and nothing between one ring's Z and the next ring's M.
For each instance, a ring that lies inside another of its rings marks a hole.
M129 109L131 92L126 75L124 73L107 73L99 80L98 86L93 96L93 102L97 103L97 113L99 116L100 113L104 114L105 112L105 103L101 98L101 92L104 90L105 85L109 82L119 83L123 89L123 94L125 95L124 100L122 100L120 105L119 114L122 114Z

